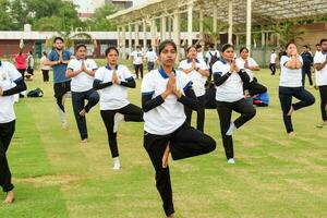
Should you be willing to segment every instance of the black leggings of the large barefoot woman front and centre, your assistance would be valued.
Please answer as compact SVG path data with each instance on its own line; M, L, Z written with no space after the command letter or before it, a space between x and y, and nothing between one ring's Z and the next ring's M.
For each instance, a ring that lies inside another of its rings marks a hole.
M168 135L144 133L144 147L156 170L156 186L164 203L165 214L170 216L174 209L169 167L162 168L162 156L168 143L172 159L179 160L210 153L216 148L216 142L187 123Z

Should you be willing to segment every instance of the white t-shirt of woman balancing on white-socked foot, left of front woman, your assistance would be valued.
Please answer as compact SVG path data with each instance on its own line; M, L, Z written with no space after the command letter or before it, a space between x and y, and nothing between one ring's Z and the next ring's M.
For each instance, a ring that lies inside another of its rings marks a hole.
M134 80L130 70L124 65L117 65L117 75L120 81ZM101 66L95 73L95 80L101 83L108 83L112 81L112 73L109 66ZM128 100L128 87L112 84L106 88L99 89L100 95L100 110L118 110L130 104Z

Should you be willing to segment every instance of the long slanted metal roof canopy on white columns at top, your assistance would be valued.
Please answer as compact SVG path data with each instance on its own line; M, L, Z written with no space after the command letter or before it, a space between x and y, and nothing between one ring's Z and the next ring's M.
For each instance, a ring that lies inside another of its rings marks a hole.
M153 17L170 16L177 10L186 12L189 3L194 11L202 9L205 16L213 15L213 5L218 8L218 20L228 22L227 0L149 0L144 4L122 10L107 16L118 24L135 23ZM232 0L233 22L246 22L246 0ZM280 20L310 19L317 15L327 16L327 0L252 0L252 23L267 24Z

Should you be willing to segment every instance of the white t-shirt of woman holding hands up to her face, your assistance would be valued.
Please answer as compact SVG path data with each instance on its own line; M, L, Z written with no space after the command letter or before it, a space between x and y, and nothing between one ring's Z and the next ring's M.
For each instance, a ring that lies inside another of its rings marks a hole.
M299 56L301 63L303 63L302 57ZM282 87L301 87L302 86L302 69L291 70L284 66L284 64L291 60L291 57L282 56L280 59L280 78L279 86Z

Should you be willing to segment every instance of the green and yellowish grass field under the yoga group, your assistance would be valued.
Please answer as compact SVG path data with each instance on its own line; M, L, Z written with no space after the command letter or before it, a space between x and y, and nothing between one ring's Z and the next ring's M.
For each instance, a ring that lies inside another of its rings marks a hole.
M1 218L160 218L154 169L143 148L143 123L120 123L122 168L113 171L105 125L96 106L87 114L89 143L80 143L71 99L69 129L62 130L52 84L39 71L28 89L43 98L24 98L15 107L16 132L8 153L15 184L13 205L0 204ZM172 161L170 171L177 218L327 217L327 128L316 104L293 113L296 136L286 134L277 96L278 76L257 73L267 85L270 107L234 133L237 165L229 166L216 110L206 111L205 131L217 149ZM130 99L141 105L141 82ZM194 120L194 119L193 119ZM4 198L4 194L0 195Z

